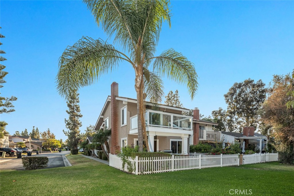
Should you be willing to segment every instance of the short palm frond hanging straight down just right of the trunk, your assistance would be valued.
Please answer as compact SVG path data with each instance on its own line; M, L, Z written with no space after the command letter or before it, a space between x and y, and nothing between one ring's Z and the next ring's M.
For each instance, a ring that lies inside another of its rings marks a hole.
M145 93L147 94L147 99L154 103L161 103L163 92L163 81L158 74L155 72L150 72L147 68L144 67L144 87Z

